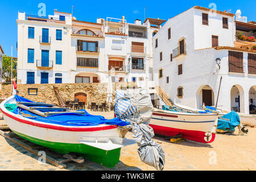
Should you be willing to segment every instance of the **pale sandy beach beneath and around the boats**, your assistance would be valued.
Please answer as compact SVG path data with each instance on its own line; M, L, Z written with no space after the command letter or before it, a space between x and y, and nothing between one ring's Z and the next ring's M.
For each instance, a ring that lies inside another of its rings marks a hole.
M106 118L113 118L113 112L92 112ZM3 123L4 121L1 121ZM210 144L201 144L191 141L171 143L163 137L154 137L166 155L164 171L182 170L256 170L256 129L248 127L249 133L245 136L217 134ZM133 139L131 133L126 138ZM51 164L39 164L38 156L31 154L22 147L0 136L0 170L155 170L141 162L136 143L123 147L118 165L109 169L94 162L85 160L82 164L69 162L67 168L59 169ZM61 158L61 155L52 152L52 155Z

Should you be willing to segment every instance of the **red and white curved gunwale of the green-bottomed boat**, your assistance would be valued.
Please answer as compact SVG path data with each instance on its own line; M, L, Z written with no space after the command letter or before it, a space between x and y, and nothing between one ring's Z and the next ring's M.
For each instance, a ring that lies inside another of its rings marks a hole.
M65 126L65 125L58 125L53 123L47 123L47 122L41 122L41 121L35 121L30 118L23 117L22 115L14 114L11 111L7 110L5 108L5 104L10 101L14 96L11 96L7 98L5 101L3 101L0 104L0 109L4 115L6 115L9 118L14 119L15 121L37 126L37 127L43 127L46 129L53 129L53 130L61 130L61 131L100 131L100 130L110 130L110 129L117 129L117 125L95 125L95 126Z

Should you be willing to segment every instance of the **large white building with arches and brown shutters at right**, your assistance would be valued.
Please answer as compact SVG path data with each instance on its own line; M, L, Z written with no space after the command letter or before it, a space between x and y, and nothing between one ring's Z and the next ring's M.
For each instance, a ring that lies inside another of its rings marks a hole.
M234 14L199 6L168 19L153 38L156 85L182 105L201 109L203 102L217 102L249 114L256 105L256 43L238 40L236 32L255 30Z

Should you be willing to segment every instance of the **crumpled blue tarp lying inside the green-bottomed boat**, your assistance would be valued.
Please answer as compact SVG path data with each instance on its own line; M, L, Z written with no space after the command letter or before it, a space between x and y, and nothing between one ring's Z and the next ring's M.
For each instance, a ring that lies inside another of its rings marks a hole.
M20 96L15 96L15 99L18 102L33 102ZM53 124L64 125L64 126L96 126L96 125L102 125L102 124L126 126L130 124L129 122L122 121L119 118L105 119L101 115L92 115L92 114L89 114L86 110L80 110L80 111L84 111L85 114L63 113L63 114L50 115L46 118L40 115L31 113L30 111L22 109L20 107L17 107L13 111L13 113L18 114L18 110L19 110L19 114L21 114L20 111L22 111L25 114L30 114L32 117L28 117L28 118L34 119L35 121L53 123Z

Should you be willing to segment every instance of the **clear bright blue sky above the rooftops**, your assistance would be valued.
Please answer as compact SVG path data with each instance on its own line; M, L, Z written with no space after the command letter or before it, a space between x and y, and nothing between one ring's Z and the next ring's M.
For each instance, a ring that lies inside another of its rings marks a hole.
M71 13L72 6L73 16L77 20L88 22L96 22L97 18L112 17L120 18L125 16L127 23L133 23L135 19L141 19L144 22L144 7L146 7L146 18L166 19L182 13L193 6L209 7L210 3L215 3L217 10L231 10L231 13L236 14L238 9L241 10L242 16L247 16L248 21L256 21L256 1L162 1L162 0L147 0L147 1L6 1L0 0L0 44L6 55L11 56L11 46L13 46L13 56L17 56L17 24L18 11L26 12L27 15L38 15L39 3L46 5L46 16L53 15L54 9L61 12ZM211 8L211 7L209 7Z

